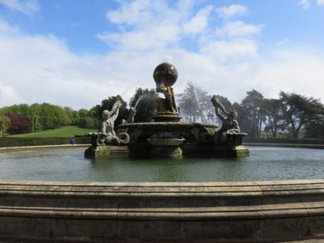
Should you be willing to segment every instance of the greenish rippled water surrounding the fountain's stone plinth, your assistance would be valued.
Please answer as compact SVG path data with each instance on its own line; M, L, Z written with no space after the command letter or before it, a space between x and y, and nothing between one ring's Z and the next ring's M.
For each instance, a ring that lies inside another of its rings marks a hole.
M324 150L249 147L246 158L84 158L85 148L0 153L0 180L223 182L324 178Z

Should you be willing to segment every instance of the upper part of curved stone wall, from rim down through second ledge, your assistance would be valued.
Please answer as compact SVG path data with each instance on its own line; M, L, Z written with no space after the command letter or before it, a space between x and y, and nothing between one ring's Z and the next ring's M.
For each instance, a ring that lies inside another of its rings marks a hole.
M0 216L244 220L324 216L324 180L0 181ZM11 200L10 198L15 198ZM79 213L77 213L79 212ZM323 229L324 233L324 229Z

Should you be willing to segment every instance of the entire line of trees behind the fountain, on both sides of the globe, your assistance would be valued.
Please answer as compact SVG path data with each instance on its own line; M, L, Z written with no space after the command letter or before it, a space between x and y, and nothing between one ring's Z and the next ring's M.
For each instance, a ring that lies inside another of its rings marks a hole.
M184 91L177 94L182 121L206 122L220 125L215 108L211 104L211 94L188 82ZM120 115L116 124L126 119L130 108L136 107L135 123L152 121L158 97L155 89L137 88L127 106L121 96L109 96L89 110L74 111L70 107L43 104L19 104L0 108L0 130L4 134L21 134L54 129L66 125L98 129L101 113L110 110L116 101L121 101ZM260 137L268 132L272 137L316 137L324 139L324 106L319 99L301 94L280 92L278 99L267 99L252 89L240 103L232 103L225 96L218 100L227 111L235 109L237 121L243 132L251 137Z

